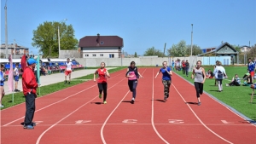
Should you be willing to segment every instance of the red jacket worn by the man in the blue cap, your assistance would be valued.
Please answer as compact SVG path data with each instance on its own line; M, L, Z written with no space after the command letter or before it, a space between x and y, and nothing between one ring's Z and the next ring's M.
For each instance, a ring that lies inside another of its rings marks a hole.
M22 88L24 95L29 92L37 95L38 83L30 67L27 67L22 74Z

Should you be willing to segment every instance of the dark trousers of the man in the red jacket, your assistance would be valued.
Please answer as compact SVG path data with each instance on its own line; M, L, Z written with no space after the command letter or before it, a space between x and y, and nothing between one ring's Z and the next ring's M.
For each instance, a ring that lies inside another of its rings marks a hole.
M32 120L34 118L34 113L36 110L36 95L35 94L26 94L26 114L25 114L25 120L24 124L25 125L33 125Z

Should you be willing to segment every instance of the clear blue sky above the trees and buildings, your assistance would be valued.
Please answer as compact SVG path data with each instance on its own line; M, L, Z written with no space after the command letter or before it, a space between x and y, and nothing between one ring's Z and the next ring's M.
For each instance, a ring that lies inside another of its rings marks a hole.
M1 0L1 43L5 43L6 0ZM123 50L143 55L185 40L206 49L221 42L256 44L256 0L7 0L8 43L32 47L32 31L44 21L72 25L75 37L119 36Z

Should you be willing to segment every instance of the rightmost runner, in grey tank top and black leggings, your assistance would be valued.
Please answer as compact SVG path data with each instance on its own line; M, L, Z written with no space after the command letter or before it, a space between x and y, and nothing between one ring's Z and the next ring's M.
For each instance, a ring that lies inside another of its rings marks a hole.
M206 81L206 72L205 72L205 69L201 67L201 60L198 60L196 62L196 67L193 69L191 78L195 78L194 84L195 84L196 97L198 101L197 105L200 106L201 105L200 95L202 95L203 93L204 83Z

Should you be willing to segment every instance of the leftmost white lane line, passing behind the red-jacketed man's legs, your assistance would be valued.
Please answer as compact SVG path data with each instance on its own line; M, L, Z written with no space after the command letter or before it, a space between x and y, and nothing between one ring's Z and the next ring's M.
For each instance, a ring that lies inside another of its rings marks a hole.
M120 74L123 74L123 73L120 73ZM119 74L119 75L120 75L120 74ZM113 78L115 78L115 77L117 77L117 76L119 76L119 75L116 75L116 76L114 76ZM110 78L109 78L109 79L110 79ZM69 96L67 96L67 97L64 98L64 99L61 99L60 101L56 101L56 102L54 102L54 103L51 103L51 104L49 104L48 106L42 107L42 108L36 110L35 112L39 112L39 111L41 111L41 110L44 110L44 109L47 108L47 107L53 106L53 105L55 105L55 104L57 104L57 103L60 103L61 101L67 100L68 98L73 97L74 95L78 95L78 94L84 92L85 90L88 90L88 89L90 89L90 88L95 87L96 85L97 85L97 84L94 84L94 85L90 86L90 87L87 88L87 89L81 90L81 91L79 91L79 92L77 92L77 93L75 93L75 94L73 94L73 95L69 95ZM76 85L74 85L74 86L76 86ZM57 91L57 92L59 92L59 91ZM54 93L56 93L56 92L54 92ZM53 93L52 93L52 94L53 94ZM44 96L42 96L42 97L44 97ZM13 123L15 123L16 121L18 121L18 120L20 120L20 119L22 119L22 118L25 118L25 116L24 116L24 117L21 117L21 118L17 118L17 119L15 119L15 120L9 122L8 124L4 124L3 126L7 126L7 125L9 125L9 124L13 124Z

